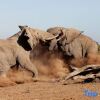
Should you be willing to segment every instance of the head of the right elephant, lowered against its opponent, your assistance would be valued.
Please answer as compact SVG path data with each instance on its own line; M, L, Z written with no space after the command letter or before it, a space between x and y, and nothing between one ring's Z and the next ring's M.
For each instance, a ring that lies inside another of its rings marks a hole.
M79 31L74 28L54 27L49 28L47 32L58 35L56 40L51 40L49 50L54 50L55 47L71 43L77 38L83 31Z

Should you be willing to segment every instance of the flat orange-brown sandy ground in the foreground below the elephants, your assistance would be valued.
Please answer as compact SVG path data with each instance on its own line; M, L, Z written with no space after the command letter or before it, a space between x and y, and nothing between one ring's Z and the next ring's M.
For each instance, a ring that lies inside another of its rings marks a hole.
M100 100L100 96L88 97L84 89L100 93L100 83L70 84L30 82L0 87L0 100Z

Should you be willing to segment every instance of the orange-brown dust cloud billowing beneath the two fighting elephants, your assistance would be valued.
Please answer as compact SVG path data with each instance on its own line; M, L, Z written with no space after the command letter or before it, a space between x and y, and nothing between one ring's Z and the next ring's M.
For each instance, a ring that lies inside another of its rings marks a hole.
M60 51L48 51L46 46L38 45L30 55L32 63L39 71L40 80L51 81L66 76L69 71L69 65L72 64L76 67L82 67L87 64L100 64L100 55L89 55L84 59L68 59L65 58ZM8 78L17 83L30 82L32 80L32 73L24 70L23 68L12 68L8 73ZM7 82L6 82L7 83Z

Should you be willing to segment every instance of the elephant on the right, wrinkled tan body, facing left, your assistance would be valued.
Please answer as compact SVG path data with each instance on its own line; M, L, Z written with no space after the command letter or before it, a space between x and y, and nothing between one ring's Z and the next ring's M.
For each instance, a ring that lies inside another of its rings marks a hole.
M66 55L74 56L74 58L78 59L89 56L90 54L97 54L98 52L97 43L81 34L82 32L77 29L54 27L49 28L47 32L53 35L59 34L59 37L51 40L49 50L54 50L59 44Z

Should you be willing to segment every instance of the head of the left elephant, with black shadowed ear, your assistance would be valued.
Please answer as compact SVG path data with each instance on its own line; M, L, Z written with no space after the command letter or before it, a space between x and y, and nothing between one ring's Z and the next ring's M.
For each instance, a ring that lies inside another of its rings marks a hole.
M57 35L28 26L19 26L19 28L21 29L21 35L17 42L22 47L27 48L28 51L33 49L40 41L47 43L57 37Z

